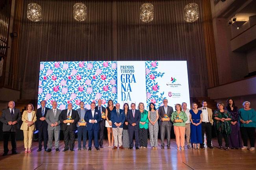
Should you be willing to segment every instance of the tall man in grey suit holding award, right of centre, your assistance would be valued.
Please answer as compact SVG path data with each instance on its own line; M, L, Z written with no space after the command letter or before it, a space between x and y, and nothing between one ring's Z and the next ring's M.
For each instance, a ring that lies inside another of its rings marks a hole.
M171 127L172 127L172 123L171 123L171 114L173 113L173 107L168 106L168 100L164 99L163 100L163 106L160 106L158 108L158 114L159 114L159 126L160 126L160 132L161 132L161 148L164 149L165 148L165 133L167 136L167 149L170 149L170 144L171 144ZM167 115L169 120L168 121L163 121L164 115Z

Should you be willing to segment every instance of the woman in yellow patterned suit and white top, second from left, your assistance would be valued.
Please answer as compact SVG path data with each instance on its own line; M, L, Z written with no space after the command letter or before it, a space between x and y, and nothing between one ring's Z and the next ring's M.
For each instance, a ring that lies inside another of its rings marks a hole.
M33 139L33 131L35 130L35 121L37 116L35 115L34 106L30 103L27 105L26 110L22 114L22 125L20 127L24 133L24 148L25 153L31 152L31 145Z

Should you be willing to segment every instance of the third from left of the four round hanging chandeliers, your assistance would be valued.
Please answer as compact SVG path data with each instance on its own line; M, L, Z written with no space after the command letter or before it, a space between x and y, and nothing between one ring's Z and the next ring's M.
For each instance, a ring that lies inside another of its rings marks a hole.
M142 22L150 22L154 19L154 6L151 3L145 3L140 8L140 18Z

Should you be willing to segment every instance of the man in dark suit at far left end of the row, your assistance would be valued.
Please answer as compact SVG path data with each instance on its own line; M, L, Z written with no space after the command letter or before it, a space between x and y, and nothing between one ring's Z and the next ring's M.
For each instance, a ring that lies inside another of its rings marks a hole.
M8 140L11 135L11 153L17 154L16 152L16 131L19 129L18 122L21 120L20 110L15 109L15 103L10 101L8 103L9 108L3 110L0 121L3 123L3 139L4 139L4 154L7 155L9 152L8 149Z

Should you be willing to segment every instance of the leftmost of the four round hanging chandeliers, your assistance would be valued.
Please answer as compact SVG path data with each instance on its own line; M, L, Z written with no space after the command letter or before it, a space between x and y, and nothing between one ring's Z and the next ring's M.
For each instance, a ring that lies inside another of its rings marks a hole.
M27 18L33 22L37 22L42 19L42 8L36 3L29 3L27 9Z

